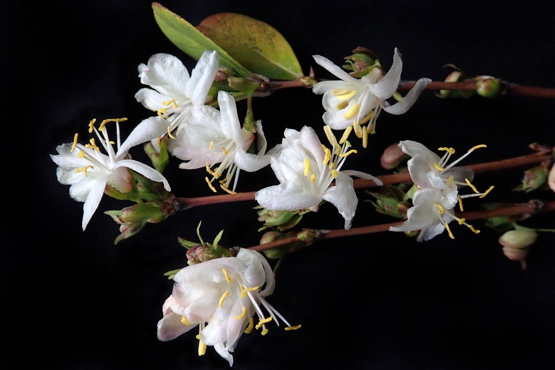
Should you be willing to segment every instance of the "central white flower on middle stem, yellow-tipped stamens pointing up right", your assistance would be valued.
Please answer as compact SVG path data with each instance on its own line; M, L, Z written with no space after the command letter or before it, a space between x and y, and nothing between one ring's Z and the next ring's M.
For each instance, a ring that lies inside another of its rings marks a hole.
M346 140L351 131L347 128L343 137L337 142L329 126L325 126L326 136L331 150L320 142L311 127L301 131L287 129L278 156L271 157L270 165L280 184L262 189L255 194L256 201L272 210L317 211L322 200L337 207L345 219L345 229L351 227L358 198L350 176L372 179L382 185L380 179L359 171L340 171L345 159L356 150L348 150ZM335 181L335 186L331 186Z

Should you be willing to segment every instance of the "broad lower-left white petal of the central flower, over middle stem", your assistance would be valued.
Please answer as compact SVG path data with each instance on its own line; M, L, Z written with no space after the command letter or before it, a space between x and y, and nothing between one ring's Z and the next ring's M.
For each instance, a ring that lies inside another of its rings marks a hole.
M322 201L320 196L302 191L299 185L290 182L261 189L254 197L260 205L273 210L305 209Z

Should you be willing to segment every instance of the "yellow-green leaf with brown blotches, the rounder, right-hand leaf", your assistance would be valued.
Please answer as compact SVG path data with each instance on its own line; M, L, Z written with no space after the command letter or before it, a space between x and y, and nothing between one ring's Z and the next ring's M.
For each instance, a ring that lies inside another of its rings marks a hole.
M296 80L302 70L287 40L271 25L236 13L218 13L197 26L251 72Z

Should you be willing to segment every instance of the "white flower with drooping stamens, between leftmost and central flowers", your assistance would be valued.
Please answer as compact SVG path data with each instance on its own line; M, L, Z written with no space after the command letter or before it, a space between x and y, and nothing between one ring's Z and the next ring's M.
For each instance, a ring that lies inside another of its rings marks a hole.
M246 152L254 140L254 134L241 129L235 100L225 91L218 92L218 111L211 106L194 106L189 113L188 124L179 126L173 144L174 156L184 162L179 168L194 169L206 167L211 179L205 177L208 186L216 192L212 182L219 179L227 169L226 176L220 180L220 187L231 194L239 179L239 171L254 172L270 163L266 154L266 138L260 121L256 122L258 133L258 155ZM216 163L218 167L211 169ZM229 189L235 176L233 188Z

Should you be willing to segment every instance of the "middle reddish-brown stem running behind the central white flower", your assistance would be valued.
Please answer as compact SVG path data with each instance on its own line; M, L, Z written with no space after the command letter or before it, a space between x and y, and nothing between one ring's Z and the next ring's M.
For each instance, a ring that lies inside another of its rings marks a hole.
M476 165L464 166L472 169L476 173L498 171L499 169L506 169L529 165L531 163L538 163L551 158L549 150L541 150L526 156L509 158L507 160L478 163ZM407 182L411 180L408 173L386 174L384 176L377 176L384 184L395 184L400 182ZM367 188L376 186L372 180L356 179L354 181L355 189ZM220 196L196 197L196 198L176 198L174 201L175 210L184 210L197 205L227 203L227 202L242 202L253 201L256 192L236 193L236 194L223 194Z

